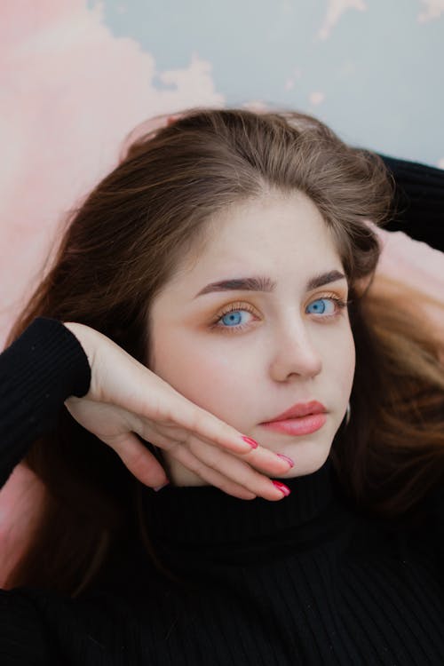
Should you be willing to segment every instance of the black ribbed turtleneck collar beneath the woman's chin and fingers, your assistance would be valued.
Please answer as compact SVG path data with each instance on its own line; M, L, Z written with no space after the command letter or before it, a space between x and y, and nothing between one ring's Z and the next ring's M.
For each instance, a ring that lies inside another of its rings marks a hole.
M242 500L210 486L166 486L144 495L148 534L157 543L173 546L245 543L251 539L302 529L326 527L325 512L335 484L330 459L319 470L283 480L288 497L270 502L257 497ZM314 534L310 534L314 536Z

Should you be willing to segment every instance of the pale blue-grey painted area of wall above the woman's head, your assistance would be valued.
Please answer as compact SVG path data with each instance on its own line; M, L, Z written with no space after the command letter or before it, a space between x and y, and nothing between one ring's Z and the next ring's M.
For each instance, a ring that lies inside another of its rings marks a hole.
M210 61L227 105L297 108L353 144L436 164L444 158L444 15L419 23L419 0L366 4L346 11L324 41L326 0L105 0L104 20L150 52L159 72L187 67L193 53ZM318 105L313 92L325 96Z

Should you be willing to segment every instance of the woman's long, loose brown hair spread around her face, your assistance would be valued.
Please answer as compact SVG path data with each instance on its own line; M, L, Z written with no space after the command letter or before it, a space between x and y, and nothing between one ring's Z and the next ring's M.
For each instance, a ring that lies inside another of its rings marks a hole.
M52 268L8 344L47 316L98 329L147 363L150 304L180 261L202 250L210 217L272 188L299 190L316 204L351 287L352 419L337 432L333 463L356 503L386 517L402 514L442 475L443 372L419 320L406 326L402 307L387 310L384 299L362 297L380 251L366 220L383 224L392 201L384 163L308 115L197 109L133 141L68 220ZM139 481L66 409L26 462L48 497L40 533L12 582L74 595L111 545L138 529Z

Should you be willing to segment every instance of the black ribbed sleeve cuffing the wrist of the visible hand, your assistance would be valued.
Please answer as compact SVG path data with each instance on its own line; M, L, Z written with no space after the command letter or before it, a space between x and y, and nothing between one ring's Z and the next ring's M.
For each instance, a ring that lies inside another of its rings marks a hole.
M70 395L91 383L86 353L61 321L38 317L0 354L0 488Z

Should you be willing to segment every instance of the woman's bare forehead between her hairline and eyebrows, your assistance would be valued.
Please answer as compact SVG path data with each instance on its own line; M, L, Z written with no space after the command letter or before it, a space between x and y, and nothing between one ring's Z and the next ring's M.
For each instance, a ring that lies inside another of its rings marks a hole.
M342 266L334 236L302 193L264 195L214 215L199 247L178 266L173 282L223 279L230 274L316 273Z

